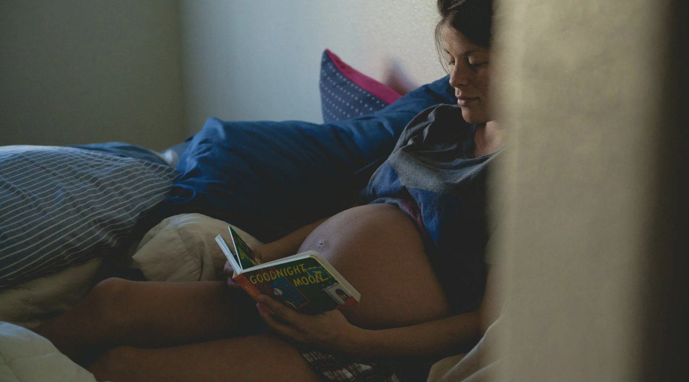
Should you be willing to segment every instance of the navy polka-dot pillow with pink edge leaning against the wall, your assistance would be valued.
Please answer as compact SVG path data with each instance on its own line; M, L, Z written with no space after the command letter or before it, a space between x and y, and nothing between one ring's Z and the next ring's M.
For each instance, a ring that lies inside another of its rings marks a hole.
M344 63L325 50L320 61L320 106L323 121L341 121L373 114L401 94Z

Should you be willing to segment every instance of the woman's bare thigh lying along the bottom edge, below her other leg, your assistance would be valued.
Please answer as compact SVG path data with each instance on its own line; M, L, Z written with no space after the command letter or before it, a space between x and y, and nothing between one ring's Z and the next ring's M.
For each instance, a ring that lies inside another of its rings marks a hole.
M170 348L114 348L89 371L112 382L320 381L298 350L269 334Z

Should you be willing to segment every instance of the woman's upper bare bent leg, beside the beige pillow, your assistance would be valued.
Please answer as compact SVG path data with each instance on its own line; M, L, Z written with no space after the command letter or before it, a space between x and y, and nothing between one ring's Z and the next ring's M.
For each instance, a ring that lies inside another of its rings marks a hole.
M181 345L250 334L260 322L239 287L223 281L139 282L107 279L77 305L34 331L85 363L118 345Z

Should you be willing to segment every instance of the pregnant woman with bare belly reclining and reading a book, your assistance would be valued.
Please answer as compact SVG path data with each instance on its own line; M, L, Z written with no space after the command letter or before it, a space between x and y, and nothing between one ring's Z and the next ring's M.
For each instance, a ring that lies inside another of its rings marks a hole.
M317 250L358 305L311 316L266 296L256 305L232 279L107 279L36 332L114 382L418 381L469 350L491 321L486 172L504 130L489 92L491 1L438 10L457 105L407 125L362 205L255 248L264 262Z

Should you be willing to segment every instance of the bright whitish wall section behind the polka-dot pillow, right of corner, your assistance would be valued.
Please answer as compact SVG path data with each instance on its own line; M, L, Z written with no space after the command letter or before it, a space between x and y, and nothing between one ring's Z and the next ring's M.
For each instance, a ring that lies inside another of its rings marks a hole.
M208 117L322 121L320 55L330 48L409 91L444 72L429 0L181 0L187 132Z

